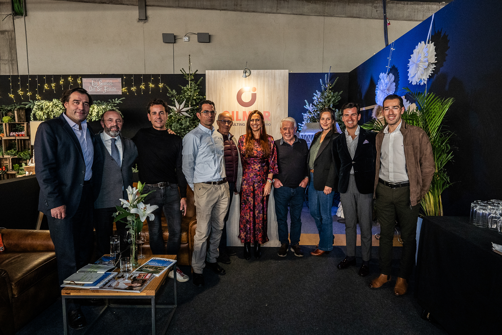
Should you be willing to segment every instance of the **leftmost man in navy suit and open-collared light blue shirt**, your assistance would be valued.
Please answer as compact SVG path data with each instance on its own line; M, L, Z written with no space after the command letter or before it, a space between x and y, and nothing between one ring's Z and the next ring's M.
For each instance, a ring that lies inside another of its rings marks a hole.
M89 262L92 253L92 176L102 164L99 143L87 125L92 98L86 90L66 90L66 111L42 122L35 137L38 209L47 215L60 284ZM85 327L77 303L69 301L69 325Z

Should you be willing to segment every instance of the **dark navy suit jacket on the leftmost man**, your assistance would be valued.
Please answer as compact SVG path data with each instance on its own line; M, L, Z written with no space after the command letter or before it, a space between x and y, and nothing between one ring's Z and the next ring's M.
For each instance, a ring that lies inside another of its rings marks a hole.
M94 132L87 123L94 145L92 177L103 157ZM40 185L38 209L51 216L51 209L66 205L66 218L75 215L80 204L85 177L85 161L78 138L63 114L42 122L35 137L35 175ZM95 200L94 196L93 201Z

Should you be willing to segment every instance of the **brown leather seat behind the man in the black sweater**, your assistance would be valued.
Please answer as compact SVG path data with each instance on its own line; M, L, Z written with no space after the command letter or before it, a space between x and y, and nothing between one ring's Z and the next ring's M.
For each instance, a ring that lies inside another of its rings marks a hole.
M136 185L133 184L136 187ZM193 251L193 237L192 243L189 239L189 229L190 226L197 223L195 215L195 200L192 189L187 185L187 211L186 215L182 217L181 220L181 244L180 250L178 252L178 264L179 265L192 265L192 251ZM148 225L145 222L143 224L143 231L146 232L147 241L143 244L143 253L145 255L152 255L152 250L150 249L150 239L148 235ZM162 216L162 234L164 236L164 247L167 247L167 240L169 238L169 231L167 228L167 221L164 215Z

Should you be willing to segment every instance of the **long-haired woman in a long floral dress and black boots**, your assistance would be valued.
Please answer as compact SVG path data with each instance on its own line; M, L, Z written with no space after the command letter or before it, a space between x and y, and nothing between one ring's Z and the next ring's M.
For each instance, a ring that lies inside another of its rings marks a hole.
M246 134L239 137L238 148L242 161L238 237L244 243L244 258L251 258L251 242L254 242L255 257L259 259L260 244L269 240L267 205L272 176L279 173L274 138L267 135L261 112L253 111L248 116Z

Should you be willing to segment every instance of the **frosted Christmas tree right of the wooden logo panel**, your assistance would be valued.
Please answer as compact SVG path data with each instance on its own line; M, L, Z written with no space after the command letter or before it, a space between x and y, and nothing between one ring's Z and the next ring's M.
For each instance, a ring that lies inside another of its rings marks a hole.
M307 109L307 113L302 113L303 122L298 125L299 131L303 128L303 125L305 123L318 122L319 112L327 107L333 108L333 106L335 106L340 100L340 93L342 93L342 91L333 92L333 87L335 86L338 77L332 83L330 83L330 73L331 66L329 67L328 74L324 76L324 83L322 82L322 79L320 79L321 92L316 91L316 93L314 94L314 103L309 104L308 101L305 100L304 107Z

